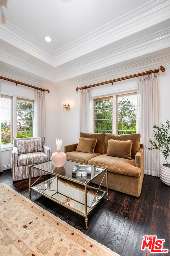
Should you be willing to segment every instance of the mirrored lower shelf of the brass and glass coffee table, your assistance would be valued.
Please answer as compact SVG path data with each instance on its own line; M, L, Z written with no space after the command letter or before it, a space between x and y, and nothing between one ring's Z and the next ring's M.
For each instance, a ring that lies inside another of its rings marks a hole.
M38 185L32 185L30 186L31 189L85 217L86 229L88 228L87 216L106 193L108 196L108 191L89 186L86 182L84 186L74 186L74 184L70 184L67 180L58 176L52 177Z

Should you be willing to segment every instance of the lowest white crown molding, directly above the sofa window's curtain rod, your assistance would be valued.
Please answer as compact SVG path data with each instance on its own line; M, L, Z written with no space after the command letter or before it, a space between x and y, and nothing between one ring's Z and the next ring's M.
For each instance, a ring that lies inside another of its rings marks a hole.
M99 75L90 76L85 79L80 79L80 80L75 79L74 81L70 81L70 82L68 80L65 84L64 83L61 85L58 84L57 90L58 92L60 92L63 90L68 90L70 88L76 89L77 86L82 87L90 84L96 84L100 81L107 81L110 79L116 79L119 77L128 76L128 75L131 75L132 73L137 74L140 72L145 72L146 70L156 69L160 65L165 66L165 68L170 67L170 54L167 54L158 58L149 59L143 62L134 63L132 65L107 71ZM160 75L163 75L163 74L160 73Z

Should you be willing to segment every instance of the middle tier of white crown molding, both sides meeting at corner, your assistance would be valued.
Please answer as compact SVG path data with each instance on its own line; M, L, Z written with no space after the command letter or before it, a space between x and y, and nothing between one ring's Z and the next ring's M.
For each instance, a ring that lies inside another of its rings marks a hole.
M66 68L58 69L57 71L54 71L53 68L48 68L47 70L46 67L38 65L32 60L25 58L21 54L14 53L12 50L9 50L4 46L2 46L3 51L1 50L0 52L0 59L2 62L38 75L52 82L60 82L95 70L102 70L102 68L168 47L170 47L170 27L124 44L123 46L114 48L114 50L86 59L83 62L70 66L68 65Z

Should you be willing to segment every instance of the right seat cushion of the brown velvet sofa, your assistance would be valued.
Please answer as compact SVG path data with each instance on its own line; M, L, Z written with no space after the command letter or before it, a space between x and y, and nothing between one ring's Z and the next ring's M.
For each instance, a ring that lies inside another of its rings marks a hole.
M105 167L108 171L133 177L139 177L141 169L135 167L135 159L117 158L114 156L100 155L89 160L90 165ZM114 182L114 180L113 180Z

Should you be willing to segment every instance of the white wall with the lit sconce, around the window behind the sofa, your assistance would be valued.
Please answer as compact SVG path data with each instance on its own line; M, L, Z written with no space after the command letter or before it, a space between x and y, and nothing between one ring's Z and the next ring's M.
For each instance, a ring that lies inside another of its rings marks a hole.
M161 65L162 63L160 63ZM159 65L158 65L159 66ZM159 93L160 93L160 122L170 120L170 65L165 66L165 73L159 72ZM151 67L152 69L152 67ZM131 71L133 74L133 70ZM79 139L79 104L80 90L76 86L58 92L58 137L63 140L63 145L77 143ZM91 89L91 97L102 97L109 95L123 94L137 91L137 79L129 79L115 83L114 85L98 86ZM70 102L70 111L62 110L62 103ZM115 101L114 101L115 102ZM115 111L116 106L113 106ZM93 111L92 111L93 115ZM115 124L114 124L115 125ZM62 148L64 150L64 147ZM169 158L170 159L170 158ZM165 162L161 155L161 162Z

